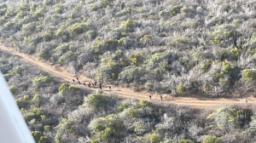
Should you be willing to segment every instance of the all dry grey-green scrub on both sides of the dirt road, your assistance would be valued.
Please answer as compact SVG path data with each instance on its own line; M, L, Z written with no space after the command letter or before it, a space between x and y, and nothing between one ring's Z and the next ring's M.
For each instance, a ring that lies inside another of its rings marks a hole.
M0 0L2 43L102 82L174 96L255 93L256 7L241 0ZM86 93L17 57L0 69L37 142L255 142L255 109ZM196 115L196 116L195 116Z

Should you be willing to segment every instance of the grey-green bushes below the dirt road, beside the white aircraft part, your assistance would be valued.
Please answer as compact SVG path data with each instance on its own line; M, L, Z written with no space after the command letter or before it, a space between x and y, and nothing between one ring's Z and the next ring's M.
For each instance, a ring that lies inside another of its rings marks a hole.
M18 57L1 51L0 57L0 70L39 143L256 141L252 106L195 110L88 93L78 85L58 82Z

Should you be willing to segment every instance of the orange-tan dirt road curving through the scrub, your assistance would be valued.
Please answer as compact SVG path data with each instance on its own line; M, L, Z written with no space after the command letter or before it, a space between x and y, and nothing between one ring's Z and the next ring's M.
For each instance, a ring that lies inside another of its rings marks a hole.
M73 83L73 79L76 79L76 77L79 77L79 81L82 83L89 83L90 81L94 82L94 80L84 77L80 74L73 74L71 72L67 72L67 70L64 67L54 67L50 66L47 63L44 63L40 60L37 60L31 55L22 54L18 51L15 51L15 49L10 49L5 46L3 46L2 43L0 43L0 50L3 50L6 53L13 54L20 56L21 60L25 60L26 62L32 64L33 66L38 66L41 70L44 70L45 72L49 72L49 74L55 75L55 77L60 77L64 81L68 83ZM77 83L77 81L76 81ZM78 84L78 83L77 83ZM83 88L89 89L88 86L84 87L84 85L80 85ZM108 89L108 86L111 86L111 90ZM98 85L97 85L98 87ZM106 83L102 83L102 89L104 90L104 93L107 94L117 94L120 97L124 98L132 98L132 99L146 99L149 100L148 93L146 91L140 91L140 92L134 92L131 89L128 88L122 88L122 87L114 87L113 85L109 85ZM96 88L90 88L90 90L96 90ZM197 96L195 96L197 97ZM206 106L226 106L226 105L253 105L256 103L256 99L253 97L247 98L248 103L246 103L245 99L223 99L223 98L206 98L206 97L198 97L198 98L188 98L188 97L172 97L167 94L163 94L163 100L160 100L160 96L157 94L152 95L152 102L156 104L177 104L180 106L192 106L195 108L203 108Z

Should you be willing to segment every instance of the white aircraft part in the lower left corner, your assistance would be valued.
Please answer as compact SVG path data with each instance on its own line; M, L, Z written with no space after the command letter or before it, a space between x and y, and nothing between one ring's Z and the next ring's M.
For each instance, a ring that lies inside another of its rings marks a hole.
M0 143L35 143L1 72Z

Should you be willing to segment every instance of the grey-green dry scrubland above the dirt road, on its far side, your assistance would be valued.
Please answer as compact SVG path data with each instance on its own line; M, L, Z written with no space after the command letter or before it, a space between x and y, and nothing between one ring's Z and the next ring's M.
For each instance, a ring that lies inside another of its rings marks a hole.
M179 96L243 96L255 90L253 4L1 1L0 36L20 52L103 82Z

